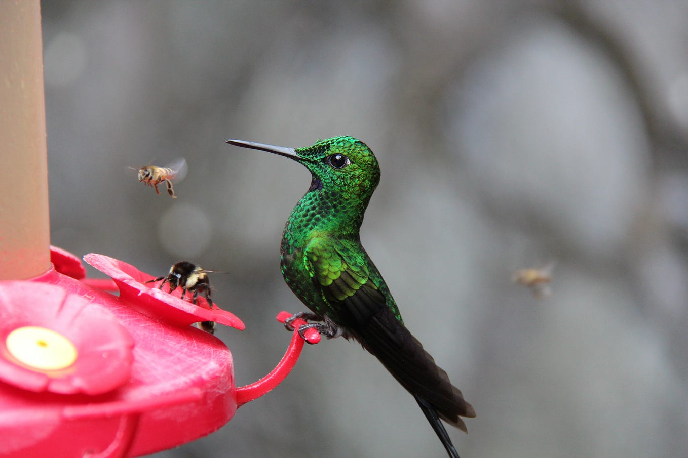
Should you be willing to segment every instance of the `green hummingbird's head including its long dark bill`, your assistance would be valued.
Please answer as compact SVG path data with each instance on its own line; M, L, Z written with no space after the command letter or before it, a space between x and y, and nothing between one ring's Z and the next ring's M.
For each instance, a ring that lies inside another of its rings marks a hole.
M225 141L279 154L303 164L313 175L310 190L338 193L345 199L367 200L380 182L380 166L375 155L357 138L333 137L297 149L244 140Z

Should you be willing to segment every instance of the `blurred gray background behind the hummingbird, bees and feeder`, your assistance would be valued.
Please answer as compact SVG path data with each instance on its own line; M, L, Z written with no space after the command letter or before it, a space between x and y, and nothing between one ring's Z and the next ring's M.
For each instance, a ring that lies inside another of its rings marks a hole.
M688 457L688 2L46 1L52 243L187 259L246 331L239 385L305 307L283 283L298 164L224 144L354 135L382 181L361 237L477 411L463 458ZM178 199L128 166L186 157ZM552 294L510 283L556 261ZM94 275L97 272L92 272ZM360 345L173 457L444 457Z

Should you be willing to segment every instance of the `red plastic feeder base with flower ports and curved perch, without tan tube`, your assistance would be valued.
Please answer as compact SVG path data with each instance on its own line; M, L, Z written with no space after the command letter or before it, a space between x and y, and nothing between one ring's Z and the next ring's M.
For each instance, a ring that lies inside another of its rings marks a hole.
M0 281L2 457L137 457L178 446L226 424L299 358L304 340L294 331L272 372L236 387L228 348L190 325L244 329L239 318L158 290L122 261L85 258L119 296L92 287L78 258L55 248L45 274ZM319 341L309 331L308 342Z

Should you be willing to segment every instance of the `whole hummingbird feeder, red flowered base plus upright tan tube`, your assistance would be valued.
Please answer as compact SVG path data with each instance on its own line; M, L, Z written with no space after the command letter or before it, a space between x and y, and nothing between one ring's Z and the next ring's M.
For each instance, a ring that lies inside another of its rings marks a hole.
M0 177L0 456L137 457L179 446L275 388L304 340L294 331L272 372L237 387L229 349L191 325L241 330L239 318L102 254L85 261L111 280L86 279L80 259L49 246L40 31L38 1L0 2L0 135L14 161ZM309 343L320 340L308 331Z

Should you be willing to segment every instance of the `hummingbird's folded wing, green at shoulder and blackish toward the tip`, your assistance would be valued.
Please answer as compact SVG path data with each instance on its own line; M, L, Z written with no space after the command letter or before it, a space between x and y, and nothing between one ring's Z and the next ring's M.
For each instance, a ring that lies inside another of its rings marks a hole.
M304 255L308 272L329 305L327 315L346 329L345 336L361 342L416 400L420 397L418 404L431 424L427 408L466 431L460 417L475 417L473 407L405 327L385 282L360 243L320 237L309 244ZM433 428L444 442L437 425L442 428L439 422Z

